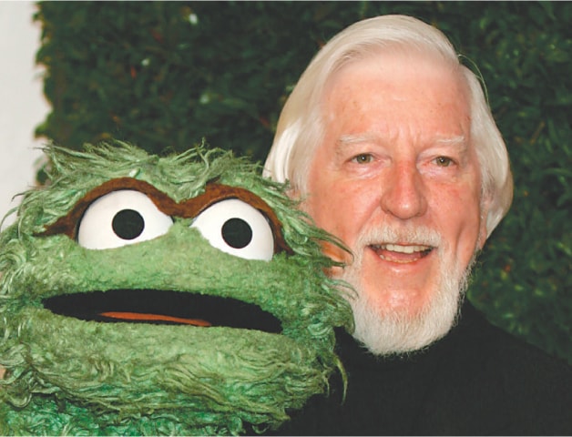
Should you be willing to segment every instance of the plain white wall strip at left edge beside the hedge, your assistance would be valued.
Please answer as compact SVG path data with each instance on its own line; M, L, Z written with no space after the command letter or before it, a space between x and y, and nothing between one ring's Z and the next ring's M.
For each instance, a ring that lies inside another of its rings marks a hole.
M42 154L34 130L49 111L43 94L42 68L36 66L41 27L33 23L36 5L0 1L0 219L20 202L15 194L35 184ZM6 224L14 222L11 215Z

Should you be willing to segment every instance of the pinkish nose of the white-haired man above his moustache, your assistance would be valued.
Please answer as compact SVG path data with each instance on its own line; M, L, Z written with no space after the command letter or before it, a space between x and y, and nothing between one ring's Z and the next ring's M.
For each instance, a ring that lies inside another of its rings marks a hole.
M384 212L403 220L424 215L427 210L424 180L414 164L394 165L382 183Z

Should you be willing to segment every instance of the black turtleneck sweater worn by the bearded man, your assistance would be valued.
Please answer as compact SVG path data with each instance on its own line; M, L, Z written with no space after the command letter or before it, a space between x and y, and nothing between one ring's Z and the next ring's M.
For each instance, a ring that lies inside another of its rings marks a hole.
M570 435L572 371L495 328L465 303L444 339L407 357L375 357L345 332L348 375L292 412L284 435ZM335 380L335 379L334 379Z

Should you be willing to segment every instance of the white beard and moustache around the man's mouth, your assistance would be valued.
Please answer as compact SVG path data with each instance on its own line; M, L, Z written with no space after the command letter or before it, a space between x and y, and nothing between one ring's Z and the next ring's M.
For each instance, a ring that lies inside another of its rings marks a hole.
M423 349L435 340L442 338L458 318L461 303L465 299L468 278L474 265L475 256L464 269L452 259L444 259L446 248L438 233L431 229L415 228L410 231L396 232L392 229L368 232L358 241L363 248L376 241L400 241L433 246L439 250L440 279L433 299L424 309L414 315L402 314L395 310L376 309L373 302L361 290L362 255L358 253L352 265L346 267L342 280L350 283L356 293L348 298L352 305L355 331L353 337L376 355L392 355Z

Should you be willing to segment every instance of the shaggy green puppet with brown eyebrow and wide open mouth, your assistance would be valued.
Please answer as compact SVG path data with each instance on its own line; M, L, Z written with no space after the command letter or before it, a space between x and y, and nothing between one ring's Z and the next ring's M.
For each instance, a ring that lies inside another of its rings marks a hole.
M46 147L0 235L0 434L275 429L342 371L335 243L260 168Z

